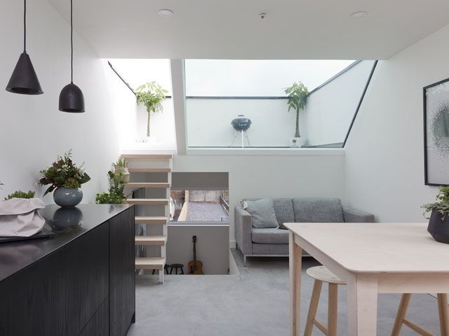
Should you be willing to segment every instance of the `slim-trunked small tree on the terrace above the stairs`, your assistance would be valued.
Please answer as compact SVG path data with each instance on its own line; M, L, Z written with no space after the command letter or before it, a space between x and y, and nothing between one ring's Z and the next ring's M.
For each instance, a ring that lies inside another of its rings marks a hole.
M138 103L142 103L147 108L147 141L150 141L149 123L151 120L151 113L162 112L162 102L166 99L167 90L164 90L161 85L156 82L149 82L140 85L135 89L135 97Z

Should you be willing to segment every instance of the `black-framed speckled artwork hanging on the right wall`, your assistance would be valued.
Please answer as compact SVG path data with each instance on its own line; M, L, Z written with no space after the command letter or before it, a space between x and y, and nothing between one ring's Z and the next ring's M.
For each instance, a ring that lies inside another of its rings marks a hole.
M449 78L423 88L424 183L449 186Z

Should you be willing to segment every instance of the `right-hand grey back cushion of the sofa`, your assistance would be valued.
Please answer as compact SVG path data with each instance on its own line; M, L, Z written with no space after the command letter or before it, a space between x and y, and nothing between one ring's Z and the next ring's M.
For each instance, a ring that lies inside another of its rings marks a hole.
M296 223L343 223L342 202L338 198L294 198Z

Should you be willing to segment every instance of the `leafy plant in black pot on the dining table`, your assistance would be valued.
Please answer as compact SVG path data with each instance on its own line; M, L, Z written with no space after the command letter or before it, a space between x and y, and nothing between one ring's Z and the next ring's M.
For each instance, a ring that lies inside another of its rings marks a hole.
M430 212L427 231L436 241L449 244L449 187L441 186L434 203L424 204L424 215Z

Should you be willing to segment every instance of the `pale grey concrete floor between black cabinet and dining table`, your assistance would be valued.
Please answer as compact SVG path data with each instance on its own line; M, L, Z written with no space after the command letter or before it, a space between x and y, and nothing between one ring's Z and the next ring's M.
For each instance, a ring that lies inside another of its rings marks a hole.
M128 335L152 336L278 336L288 329L288 259L248 258L243 267L241 253L232 251L240 274L205 276L138 277L136 283L136 323ZM307 315L313 281L304 274L317 265L303 259L302 330ZM389 335L400 295L383 294L378 300L377 335ZM347 335L346 291L339 289L338 335ZM327 316L327 286L319 304L318 318ZM408 318L439 335L438 309L434 297L413 296ZM316 328L315 328L316 329ZM323 335L314 330L313 335ZM416 335L406 326L401 335Z

